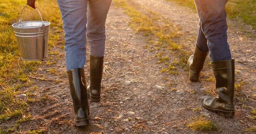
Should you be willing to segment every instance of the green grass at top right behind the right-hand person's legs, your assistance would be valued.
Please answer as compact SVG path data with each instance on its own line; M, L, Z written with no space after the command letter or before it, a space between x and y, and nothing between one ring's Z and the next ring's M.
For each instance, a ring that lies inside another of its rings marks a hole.
M168 0L187 6L196 11L194 0ZM227 17L242 18L244 22L256 28L256 0L229 0L226 5Z

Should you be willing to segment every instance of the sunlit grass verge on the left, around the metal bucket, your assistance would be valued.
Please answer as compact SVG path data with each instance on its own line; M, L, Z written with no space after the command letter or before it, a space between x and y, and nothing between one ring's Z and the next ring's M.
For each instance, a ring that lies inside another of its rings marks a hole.
M34 83L33 72L42 64L41 61L20 59L12 24L18 22L25 5L26 0L2 0L0 3L0 120L6 120L6 117L15 119L23 117L24 109L27 107L26 100L15 98L15 96L22 93L20 88L31 86ZM51 23L49 46L54 47L55 44L61 42L60 34L63 31L57 1L37 0L36 6L43 20ZM38 11L26 6L22 13L22 20L41 20L41 18ZM58 52L50 52L50 54L55 55ZM30 92L26 94L28 97L34 96ZM6 133L13 130L10 128L10 130L2 131Z

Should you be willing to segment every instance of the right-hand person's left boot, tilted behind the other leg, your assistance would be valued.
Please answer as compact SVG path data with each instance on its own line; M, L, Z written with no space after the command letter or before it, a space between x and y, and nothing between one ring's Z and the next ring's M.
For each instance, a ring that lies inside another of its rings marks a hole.
M195 52L189 57L188 67L189 67L189 80L192 82L197 82L199 80L200 72L204 67L204 61L208 52L202 52L195 46Z

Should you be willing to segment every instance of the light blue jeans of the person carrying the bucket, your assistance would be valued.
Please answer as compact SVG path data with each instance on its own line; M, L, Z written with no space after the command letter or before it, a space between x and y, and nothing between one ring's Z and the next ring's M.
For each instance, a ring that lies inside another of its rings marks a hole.
M57 0L65 31L67 70L84 68L86 36L90 55L105 53L105 22L112 0Z

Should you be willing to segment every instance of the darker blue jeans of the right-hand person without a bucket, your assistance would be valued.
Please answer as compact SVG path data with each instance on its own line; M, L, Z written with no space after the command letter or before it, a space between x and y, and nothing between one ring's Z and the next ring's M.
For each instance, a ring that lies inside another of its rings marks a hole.
M200 20L198 31L198 49L207 52L211 61L230 60L231 53L227 43L228 0L194 0Z

